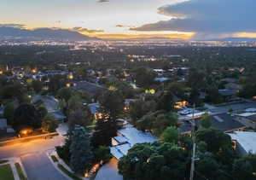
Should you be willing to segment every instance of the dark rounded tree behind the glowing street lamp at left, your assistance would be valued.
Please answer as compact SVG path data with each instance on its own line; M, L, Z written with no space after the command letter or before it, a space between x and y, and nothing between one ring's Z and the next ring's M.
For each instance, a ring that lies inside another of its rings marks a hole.
M42 119L40 119L37 109L31 104L21 104L15 109L13 124L15 130L19 131L22 127L37 129L41 125Z

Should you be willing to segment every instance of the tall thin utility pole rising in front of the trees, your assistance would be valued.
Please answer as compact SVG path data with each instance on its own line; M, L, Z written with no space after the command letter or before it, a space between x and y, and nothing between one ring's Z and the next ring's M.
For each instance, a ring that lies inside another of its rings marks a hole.
M194 180L194 171L195 171L195 103L193 107L193 119L192 119L192 130L191 130L191 136L193 141L193 152L192 152L192 158L191 158L191 167L190 167L190 178L189 180Z

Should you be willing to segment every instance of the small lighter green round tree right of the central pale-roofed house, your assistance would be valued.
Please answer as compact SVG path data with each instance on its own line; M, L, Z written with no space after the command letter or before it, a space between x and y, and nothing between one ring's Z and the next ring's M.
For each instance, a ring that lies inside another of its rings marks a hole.
M174 142L177 143L179 140L179 132L177 127L170 126L162 134L162 139L164 142Z

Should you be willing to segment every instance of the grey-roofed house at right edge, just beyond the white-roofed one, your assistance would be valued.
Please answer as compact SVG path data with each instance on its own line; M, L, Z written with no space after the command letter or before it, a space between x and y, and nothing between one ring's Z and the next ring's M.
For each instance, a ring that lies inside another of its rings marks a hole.
M240 122L242 125L247 127L251 127L253 129L256 128L256 113L255 112L247 112L247 113L239 113L235 115L235 119Z

